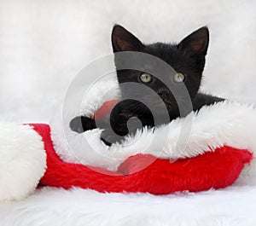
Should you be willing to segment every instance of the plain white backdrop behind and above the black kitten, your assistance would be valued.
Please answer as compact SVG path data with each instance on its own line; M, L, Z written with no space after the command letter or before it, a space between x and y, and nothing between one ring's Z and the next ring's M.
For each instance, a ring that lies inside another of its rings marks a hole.
M86 64L111 53L115 23L145 43L209 26L203 90L256 103L256 1L0 0L0 120L48 122Z

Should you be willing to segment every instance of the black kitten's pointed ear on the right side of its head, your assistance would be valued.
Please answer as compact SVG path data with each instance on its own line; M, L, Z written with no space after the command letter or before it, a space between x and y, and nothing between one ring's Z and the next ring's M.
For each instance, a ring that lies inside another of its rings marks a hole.
M178 43L177 48L189 55L207 55L209 30L202 26Z

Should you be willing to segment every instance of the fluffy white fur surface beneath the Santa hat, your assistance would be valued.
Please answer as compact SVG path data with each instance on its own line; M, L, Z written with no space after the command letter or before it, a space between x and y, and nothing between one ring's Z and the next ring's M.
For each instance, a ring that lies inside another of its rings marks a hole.
M28 199L0 204L1 226L255 226L256 188L197 194L99 194L44 188Z

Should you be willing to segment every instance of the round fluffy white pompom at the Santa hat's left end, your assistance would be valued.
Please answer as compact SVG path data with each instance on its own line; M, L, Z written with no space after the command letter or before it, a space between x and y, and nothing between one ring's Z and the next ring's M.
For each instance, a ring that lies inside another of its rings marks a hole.
M41 136L29 125L0 122L0 201L31 194L45 168Z

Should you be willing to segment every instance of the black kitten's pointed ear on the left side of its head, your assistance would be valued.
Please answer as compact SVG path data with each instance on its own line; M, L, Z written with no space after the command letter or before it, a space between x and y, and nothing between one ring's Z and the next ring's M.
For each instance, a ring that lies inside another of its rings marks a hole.
M113 52L120 51L142 51L143 43L137 39L131 32L128 32L123 26L115 25L112 31Z

